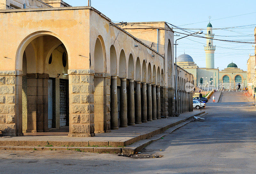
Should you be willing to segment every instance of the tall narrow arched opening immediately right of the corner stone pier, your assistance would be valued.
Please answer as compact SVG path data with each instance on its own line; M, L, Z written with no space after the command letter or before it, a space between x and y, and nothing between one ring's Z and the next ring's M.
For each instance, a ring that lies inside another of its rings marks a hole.
M106 119L107 102L106 102L106 81L104 70L105 48L104 42L100 36L97 37L94 47L94 133L104 133L110 129L109 120Z

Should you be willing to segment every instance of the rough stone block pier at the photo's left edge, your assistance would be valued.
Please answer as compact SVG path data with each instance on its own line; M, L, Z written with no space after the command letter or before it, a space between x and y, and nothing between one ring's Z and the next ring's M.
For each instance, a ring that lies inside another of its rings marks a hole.
M16 71L0 71L0 136L23 135L20 132L22 119L18 117L19 96L16 95L19 86L21 90L21 81L22 76L16 76Z

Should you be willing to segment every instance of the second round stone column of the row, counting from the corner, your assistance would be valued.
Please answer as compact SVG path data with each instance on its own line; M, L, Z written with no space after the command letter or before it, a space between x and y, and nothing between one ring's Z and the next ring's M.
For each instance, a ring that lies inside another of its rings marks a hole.
M126 92L126 77L120 78L121 89L120 89L120 126L127 127L127 92Z

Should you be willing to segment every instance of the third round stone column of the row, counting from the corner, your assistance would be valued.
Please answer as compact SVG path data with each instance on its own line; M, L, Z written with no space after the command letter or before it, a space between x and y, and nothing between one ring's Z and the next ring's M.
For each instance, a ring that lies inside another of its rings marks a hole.
M127 103L127 119L128 125L135 125L135 109L134 109L134 80L128 79L129 89L128 89L128 103Z

